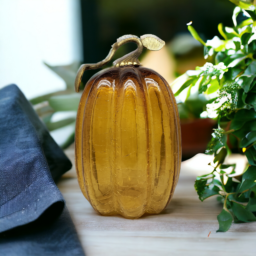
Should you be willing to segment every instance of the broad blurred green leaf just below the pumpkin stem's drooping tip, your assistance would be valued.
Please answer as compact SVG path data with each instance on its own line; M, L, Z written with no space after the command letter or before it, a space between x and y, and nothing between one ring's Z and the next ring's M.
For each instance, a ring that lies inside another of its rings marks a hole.
M53 96L49 99L50 106L55 111L77 110L81 93Z

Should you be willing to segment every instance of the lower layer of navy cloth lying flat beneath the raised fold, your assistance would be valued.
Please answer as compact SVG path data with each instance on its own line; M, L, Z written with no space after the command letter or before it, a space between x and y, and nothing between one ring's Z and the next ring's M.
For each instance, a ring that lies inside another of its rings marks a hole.
M46 218L0 234L0 255L84 256L84 252L65 207L54 221Z

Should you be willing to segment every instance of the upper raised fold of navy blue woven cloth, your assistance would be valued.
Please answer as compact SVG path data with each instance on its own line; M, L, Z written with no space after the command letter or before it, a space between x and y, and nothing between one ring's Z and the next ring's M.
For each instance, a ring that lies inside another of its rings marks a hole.
M65 200L52 178L58 179L70 168L70 161L51 138L19 88L12 84L1 89L0 232L19 226L26 230L28 223L36 230L36 226L42 223L46 225L60 215ZM67 211L64 215L69 216ZM67 220L64 215L59 217L59 222ZM74 230L73 226L70 232L76 237L74 243L79 244ZM62 233L62 236L65 237L65 234ZM0 242L3 242L1 239L0 236ZM52 242L60 243L56 239ZM32 252L31 255L40 254ZM52 255L57 254L55 252Z

